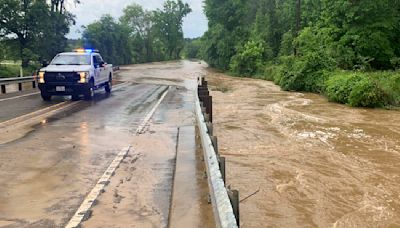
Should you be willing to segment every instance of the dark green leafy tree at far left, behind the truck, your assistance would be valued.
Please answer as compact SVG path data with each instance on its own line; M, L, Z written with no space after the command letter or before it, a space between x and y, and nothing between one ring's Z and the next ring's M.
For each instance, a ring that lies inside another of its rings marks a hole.
M63 50L71 23L64 0L0 0L0 37L18 41L23 67Z

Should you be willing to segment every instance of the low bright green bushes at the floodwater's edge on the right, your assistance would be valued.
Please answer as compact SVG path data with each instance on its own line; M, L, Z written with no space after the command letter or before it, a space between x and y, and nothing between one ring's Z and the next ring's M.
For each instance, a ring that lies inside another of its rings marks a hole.
M286 91L319 93L332 102L353 107L400 106L399 71L308 71L295 65L270 65L254 76L275 82Z

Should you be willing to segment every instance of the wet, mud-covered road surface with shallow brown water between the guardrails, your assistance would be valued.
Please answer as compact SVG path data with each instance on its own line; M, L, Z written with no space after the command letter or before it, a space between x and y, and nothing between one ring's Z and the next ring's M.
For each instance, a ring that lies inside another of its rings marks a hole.
M82 226L166 227L176 189L177 132L195 126L197 65L126 66L115 75L120 83L112 94L96 92L93 101L55 98L46 103L37 94L0 97L0 227L69 224L127 147L126 158ZM195 153L195 135L186 138ZM187 184L203 186L203 181ZM182 198L201 211L194 226L212 218L210 205L202 203L206 196L198 195L201 202Z

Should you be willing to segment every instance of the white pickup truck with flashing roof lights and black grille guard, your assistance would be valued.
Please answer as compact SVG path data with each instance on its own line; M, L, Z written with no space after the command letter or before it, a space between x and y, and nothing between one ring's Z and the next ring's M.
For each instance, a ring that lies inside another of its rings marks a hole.
M111 93L112 65L103 61L97 50L77 49L58 54L49 65L38 72L38 85L43 100L52 96L72 96L79 100L94 97L94 91L104 88Z

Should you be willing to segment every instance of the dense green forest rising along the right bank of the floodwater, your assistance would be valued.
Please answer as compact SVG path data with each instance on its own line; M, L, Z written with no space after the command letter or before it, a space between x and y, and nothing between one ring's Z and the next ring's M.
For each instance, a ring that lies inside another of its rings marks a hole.
M204 3L209 30L188 49L212 67L352 106L400 104L399 0Z

